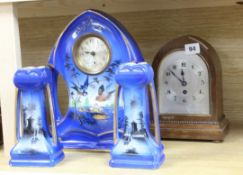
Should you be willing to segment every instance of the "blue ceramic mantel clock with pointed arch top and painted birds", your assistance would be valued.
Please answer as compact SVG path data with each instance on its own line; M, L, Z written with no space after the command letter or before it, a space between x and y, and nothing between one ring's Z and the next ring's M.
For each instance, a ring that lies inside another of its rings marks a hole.
M54 79L61 75L69 92L62 117L56 82L51 86L57 134L65 148L113 146L115 71L122 63L140 61L143 56L130 34L103 12L87 10L65 28L49 59ZM118 113L123 113L121 107Z

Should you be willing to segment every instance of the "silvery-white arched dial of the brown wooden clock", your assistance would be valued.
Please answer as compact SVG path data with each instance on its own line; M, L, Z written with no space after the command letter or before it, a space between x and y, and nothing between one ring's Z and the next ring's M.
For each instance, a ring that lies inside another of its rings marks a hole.
M160 114L209 115L209 74L198 55L168 54L159 65Z

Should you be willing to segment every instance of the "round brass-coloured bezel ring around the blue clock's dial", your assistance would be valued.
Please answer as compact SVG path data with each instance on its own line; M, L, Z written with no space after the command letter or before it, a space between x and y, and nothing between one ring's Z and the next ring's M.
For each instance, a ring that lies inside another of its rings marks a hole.
M107 64L104 66L104 68L100 71L89 71L88 69L86 69L85 67L81 66L78 62L78 59L80 59L81 57L78 55L78 48L80 46L80 44L82 43L82 41L84 41L85 39L87 38L90 38L90 37L96 37L96 38L99 38L100 40L102 40L106 47L108 48L109 50L109 61L107 62ZM73 60L74 60L74 63L75 63L75 66L78 67L78 69L86 74L89 74L89 75L97 75L97 74L100 74L102 72L105 71L105 69L109 66L109 64L111 63L111 58L112 58L112 53L111 53L111 47L109 45L109 43L100 35L97 35L97 34L86 34L86 35L83 35L81 37L79 37L74 45L73 45L73 48L72 48L72 55L73 55Z

